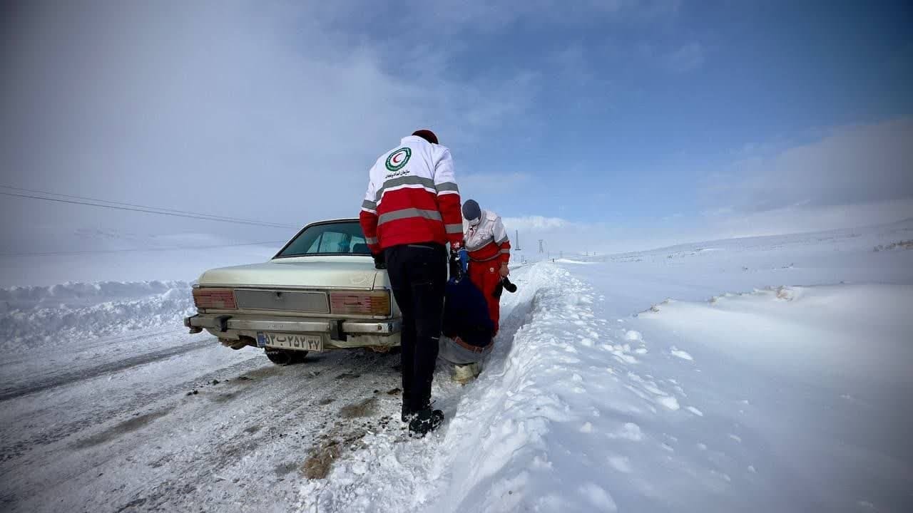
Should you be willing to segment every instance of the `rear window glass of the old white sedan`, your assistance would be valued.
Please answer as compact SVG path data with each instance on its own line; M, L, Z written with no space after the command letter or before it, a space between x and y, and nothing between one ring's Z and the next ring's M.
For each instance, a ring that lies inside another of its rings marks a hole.
M336 221L302 230L276 256L371 255L358 221Z

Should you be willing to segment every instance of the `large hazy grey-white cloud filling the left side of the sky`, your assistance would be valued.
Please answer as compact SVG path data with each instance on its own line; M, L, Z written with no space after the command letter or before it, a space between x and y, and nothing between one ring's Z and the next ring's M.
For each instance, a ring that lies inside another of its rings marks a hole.
M529 72L456 79L445 56L423 52L403 68L401 54L331 23L345 8L19 7L0 44L2 182L303 225L357 215L368 167L416 128L465 147L527 110ZM16 222L0 235L27 244L95 225L287 235L111 213L5 198L0 215Z

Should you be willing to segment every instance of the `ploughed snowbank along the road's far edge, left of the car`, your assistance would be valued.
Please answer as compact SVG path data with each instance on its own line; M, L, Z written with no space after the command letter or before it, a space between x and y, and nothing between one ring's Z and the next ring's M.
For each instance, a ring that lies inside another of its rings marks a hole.
M193 312L184 281L67 283L0 289L2 349L35 349L58 341L98 338L162 325L179 326Z

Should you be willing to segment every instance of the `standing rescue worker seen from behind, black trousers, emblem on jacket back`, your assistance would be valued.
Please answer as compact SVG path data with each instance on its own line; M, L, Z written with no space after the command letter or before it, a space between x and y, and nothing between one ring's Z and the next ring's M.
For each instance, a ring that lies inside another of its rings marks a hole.
M378 268L390 277L403 314L403 422L424 435L444 421L432 410L447 249L463 241L459 189L450 150L429 130L415 131L383 153L370 172L360 221Z

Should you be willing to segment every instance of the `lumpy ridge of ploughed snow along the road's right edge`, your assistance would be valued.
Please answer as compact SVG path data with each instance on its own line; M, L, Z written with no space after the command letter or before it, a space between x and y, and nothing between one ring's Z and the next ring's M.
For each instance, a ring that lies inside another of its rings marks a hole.
M617 470L663 458L642 419L678 409L633 372L645 348L593 315L593 289L540 265L526 322L457 406L428 510L614 511ZM609 470L609 471L607 471Z

